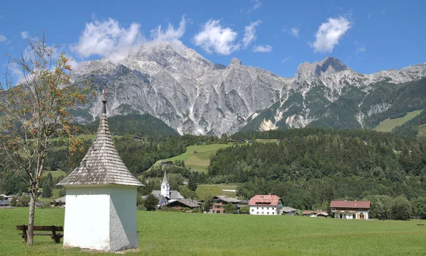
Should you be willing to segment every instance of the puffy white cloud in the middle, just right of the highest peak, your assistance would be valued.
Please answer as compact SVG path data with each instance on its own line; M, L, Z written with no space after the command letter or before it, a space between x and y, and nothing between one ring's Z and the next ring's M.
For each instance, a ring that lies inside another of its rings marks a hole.
M192 40L206 52L229 55L241 47L235 42L237 36L238 33L232 28L222 27L219 20L209 20Z

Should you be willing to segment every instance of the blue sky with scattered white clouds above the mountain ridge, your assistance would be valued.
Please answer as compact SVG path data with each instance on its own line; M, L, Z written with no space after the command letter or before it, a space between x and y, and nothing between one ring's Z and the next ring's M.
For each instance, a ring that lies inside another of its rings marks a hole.
M301 62L332 56L372 73L426 62L426 1L6 1L0 72L45 30L76 62L119 60L172 40L214 63L293 77ZM161 26L159 28L159 26ZM16 74L18 75L18 74Z

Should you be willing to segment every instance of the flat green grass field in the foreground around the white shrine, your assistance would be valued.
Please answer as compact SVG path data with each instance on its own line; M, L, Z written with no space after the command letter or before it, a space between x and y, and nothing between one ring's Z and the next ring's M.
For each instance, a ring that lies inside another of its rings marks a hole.
M48 236L26 247L15 226L27 218L28 208L0 210L0 255L111 255L63 249ZM60 208L35 211L38 225L63 218ZM426 221L138 211L139 249L127 255L425 255L426 226L417 223Z

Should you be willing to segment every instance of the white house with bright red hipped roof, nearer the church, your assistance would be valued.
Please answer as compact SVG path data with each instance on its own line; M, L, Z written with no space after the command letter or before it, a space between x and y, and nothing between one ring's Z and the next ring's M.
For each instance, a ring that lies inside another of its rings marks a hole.
M281 215L283 201L276 195L256 195L249 201L250 214L253 215Z

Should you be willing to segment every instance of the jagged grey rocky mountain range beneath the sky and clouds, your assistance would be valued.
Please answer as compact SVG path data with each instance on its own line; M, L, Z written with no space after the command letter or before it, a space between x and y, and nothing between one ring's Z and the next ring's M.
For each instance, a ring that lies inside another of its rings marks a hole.
M83 62L73 79L76 84L89 81L107 87L109 116L151 113L181 134L221 135L248 123L258 130L303 127L342 95L365 97L378 82L408 82L423 76L426 64L359 74L328 57L302 63L295 77L284 78L246 67L236 58L228 66L213 64L195 50L164 42L141 48L116 64ZM75 120L93 121L99 112L97 102L89 97L74 113ZM371 111L383 108L371 106Z

